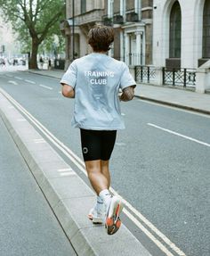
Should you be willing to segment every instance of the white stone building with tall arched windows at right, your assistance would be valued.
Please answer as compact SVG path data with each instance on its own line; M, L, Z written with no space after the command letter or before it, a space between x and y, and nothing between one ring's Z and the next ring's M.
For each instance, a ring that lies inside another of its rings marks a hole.
M153 65L197 70L198 92L210 88L209 17L209 0L153 3Z

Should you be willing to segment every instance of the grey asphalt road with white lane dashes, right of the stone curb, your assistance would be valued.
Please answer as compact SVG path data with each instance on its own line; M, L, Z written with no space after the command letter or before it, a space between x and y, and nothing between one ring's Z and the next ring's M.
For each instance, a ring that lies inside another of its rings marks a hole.
M58 79L4 72L0 87L82 158L79 131L70 127L74 100L61 96ZM139 99L122 103L122 113L126 129L117 134L111 186L186 255L210 255L209 116ZM125 224L152 255L165 255Z

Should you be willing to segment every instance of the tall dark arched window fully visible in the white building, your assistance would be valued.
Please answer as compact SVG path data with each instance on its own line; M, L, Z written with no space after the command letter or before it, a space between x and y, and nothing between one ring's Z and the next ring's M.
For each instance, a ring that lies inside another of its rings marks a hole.
M170 40L169 57L181 58L181 39L182 39L182 13L178 1L172 7L170 15Z

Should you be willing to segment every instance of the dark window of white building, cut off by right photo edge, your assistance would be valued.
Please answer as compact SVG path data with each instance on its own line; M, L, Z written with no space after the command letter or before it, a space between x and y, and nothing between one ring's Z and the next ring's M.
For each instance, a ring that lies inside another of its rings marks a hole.
M206 0L203 15L203 58L210 59L210 2Z

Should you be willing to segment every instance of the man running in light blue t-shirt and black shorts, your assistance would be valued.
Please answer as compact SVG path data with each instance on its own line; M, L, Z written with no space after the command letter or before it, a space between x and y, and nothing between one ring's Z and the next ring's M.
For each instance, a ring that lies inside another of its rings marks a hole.
M90 29L88 44L93 53L72 62L61 78L62 95L75 98L72 126L80 128L86 171L97 194L88 217L93 223L105 221L109 235L120 227L123 209L121 200L109 192L109 159L117 130L125 128L119 102L132 100L136 86L125 62L107 55L113 41L111 27Z

